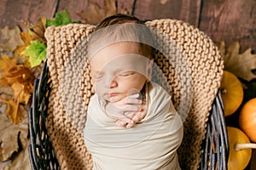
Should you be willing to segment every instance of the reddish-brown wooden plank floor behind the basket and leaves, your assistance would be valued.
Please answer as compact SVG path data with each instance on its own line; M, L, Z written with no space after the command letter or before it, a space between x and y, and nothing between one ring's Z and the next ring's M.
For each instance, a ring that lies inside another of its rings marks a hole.
M20 25L20 20L37 23L39 16L54 17L56 12L67 9L73 20L80 20L79 13L90 3L104 8L104 0L0 0L0 28ZM136 3L135 3L136 2ZM224 40L226 46L241 42L241 52L252 48L256 53L256 1L255 0L115 0L117 12L131 14L140 19L171 18L183 20L198 27L214 42ZM21 29L24 29L21 26ZM255 82L253 82L255 84ZM256 86L254 86L256 87ZM256 154L254 151L254 158ZM256 169L252 161L250 169Z

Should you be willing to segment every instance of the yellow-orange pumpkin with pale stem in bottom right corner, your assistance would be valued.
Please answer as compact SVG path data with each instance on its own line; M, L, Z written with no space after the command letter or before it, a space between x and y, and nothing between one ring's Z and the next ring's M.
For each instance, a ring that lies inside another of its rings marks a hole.
M250 140L239 128L227 127L227 131L230 145L228 170L243 170L251 159L252 149L237 150L236 145L250 143Z

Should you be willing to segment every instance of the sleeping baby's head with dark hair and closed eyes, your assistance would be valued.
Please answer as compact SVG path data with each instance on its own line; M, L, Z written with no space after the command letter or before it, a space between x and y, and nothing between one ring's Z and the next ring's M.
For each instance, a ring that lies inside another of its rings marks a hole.
M153 38L143 21L124 14L102 20L88 43L96 94L111 102L141 92L152 70Z

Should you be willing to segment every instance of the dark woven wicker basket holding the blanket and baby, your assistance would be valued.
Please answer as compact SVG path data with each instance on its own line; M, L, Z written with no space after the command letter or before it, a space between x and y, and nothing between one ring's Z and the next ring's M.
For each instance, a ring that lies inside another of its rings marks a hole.
M74 27L76 26L72 28ZM45 125L49 114L48 104L52 87L47 63L46 60L41 76L35 81L29 117L31 135L29 156L32 169L59 169L61 164L55 156L54 146L52 146ZM212 102L212 109L207 117L207 133L201 144L200 165L195 165L199 169L226 169L229 147L223 111L222 99L218 93Z

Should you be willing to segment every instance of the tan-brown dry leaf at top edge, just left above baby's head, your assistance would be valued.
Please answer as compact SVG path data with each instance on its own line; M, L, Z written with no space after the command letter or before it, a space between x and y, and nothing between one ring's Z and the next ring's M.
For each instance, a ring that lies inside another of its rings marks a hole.
M82 10L78 15L88 24L99 23L102 19L117 14L117 8L114 0L104 1L104 8L101 8L97 3L90 2L87 10Z

